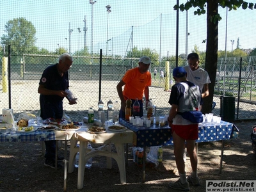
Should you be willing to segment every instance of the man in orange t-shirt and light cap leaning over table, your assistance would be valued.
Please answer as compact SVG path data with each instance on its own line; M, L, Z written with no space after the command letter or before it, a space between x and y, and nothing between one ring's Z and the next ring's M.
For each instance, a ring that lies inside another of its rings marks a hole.
M148 101L149 90L148 86L151 85L151 74L148 71L150 67L150 58L143 56L139 60L139 67L128 70L122 80L117 84L116 90L121 100L120 117L125 116L126 100L129 98L132 100L132 105L135 99L138 98L140 103L140 116L143 116L143 102L142 97L145 95L146 101ZM124 86L124 91L122 87Z

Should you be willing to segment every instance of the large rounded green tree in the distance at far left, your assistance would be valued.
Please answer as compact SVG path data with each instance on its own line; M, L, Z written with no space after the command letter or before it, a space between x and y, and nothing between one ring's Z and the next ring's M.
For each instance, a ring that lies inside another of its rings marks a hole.
M22 54L31 52L35 49L36 29L33 24L23 17L9 20L4 25L4 34L1 37L1 44L11 45L11 51L14 54Z

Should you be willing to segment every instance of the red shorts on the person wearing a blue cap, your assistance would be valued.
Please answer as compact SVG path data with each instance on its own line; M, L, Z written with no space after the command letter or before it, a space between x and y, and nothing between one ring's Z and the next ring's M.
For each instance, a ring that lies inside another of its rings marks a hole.
M173 131L184 140L197 140L198 138L198 124L172 125Z

